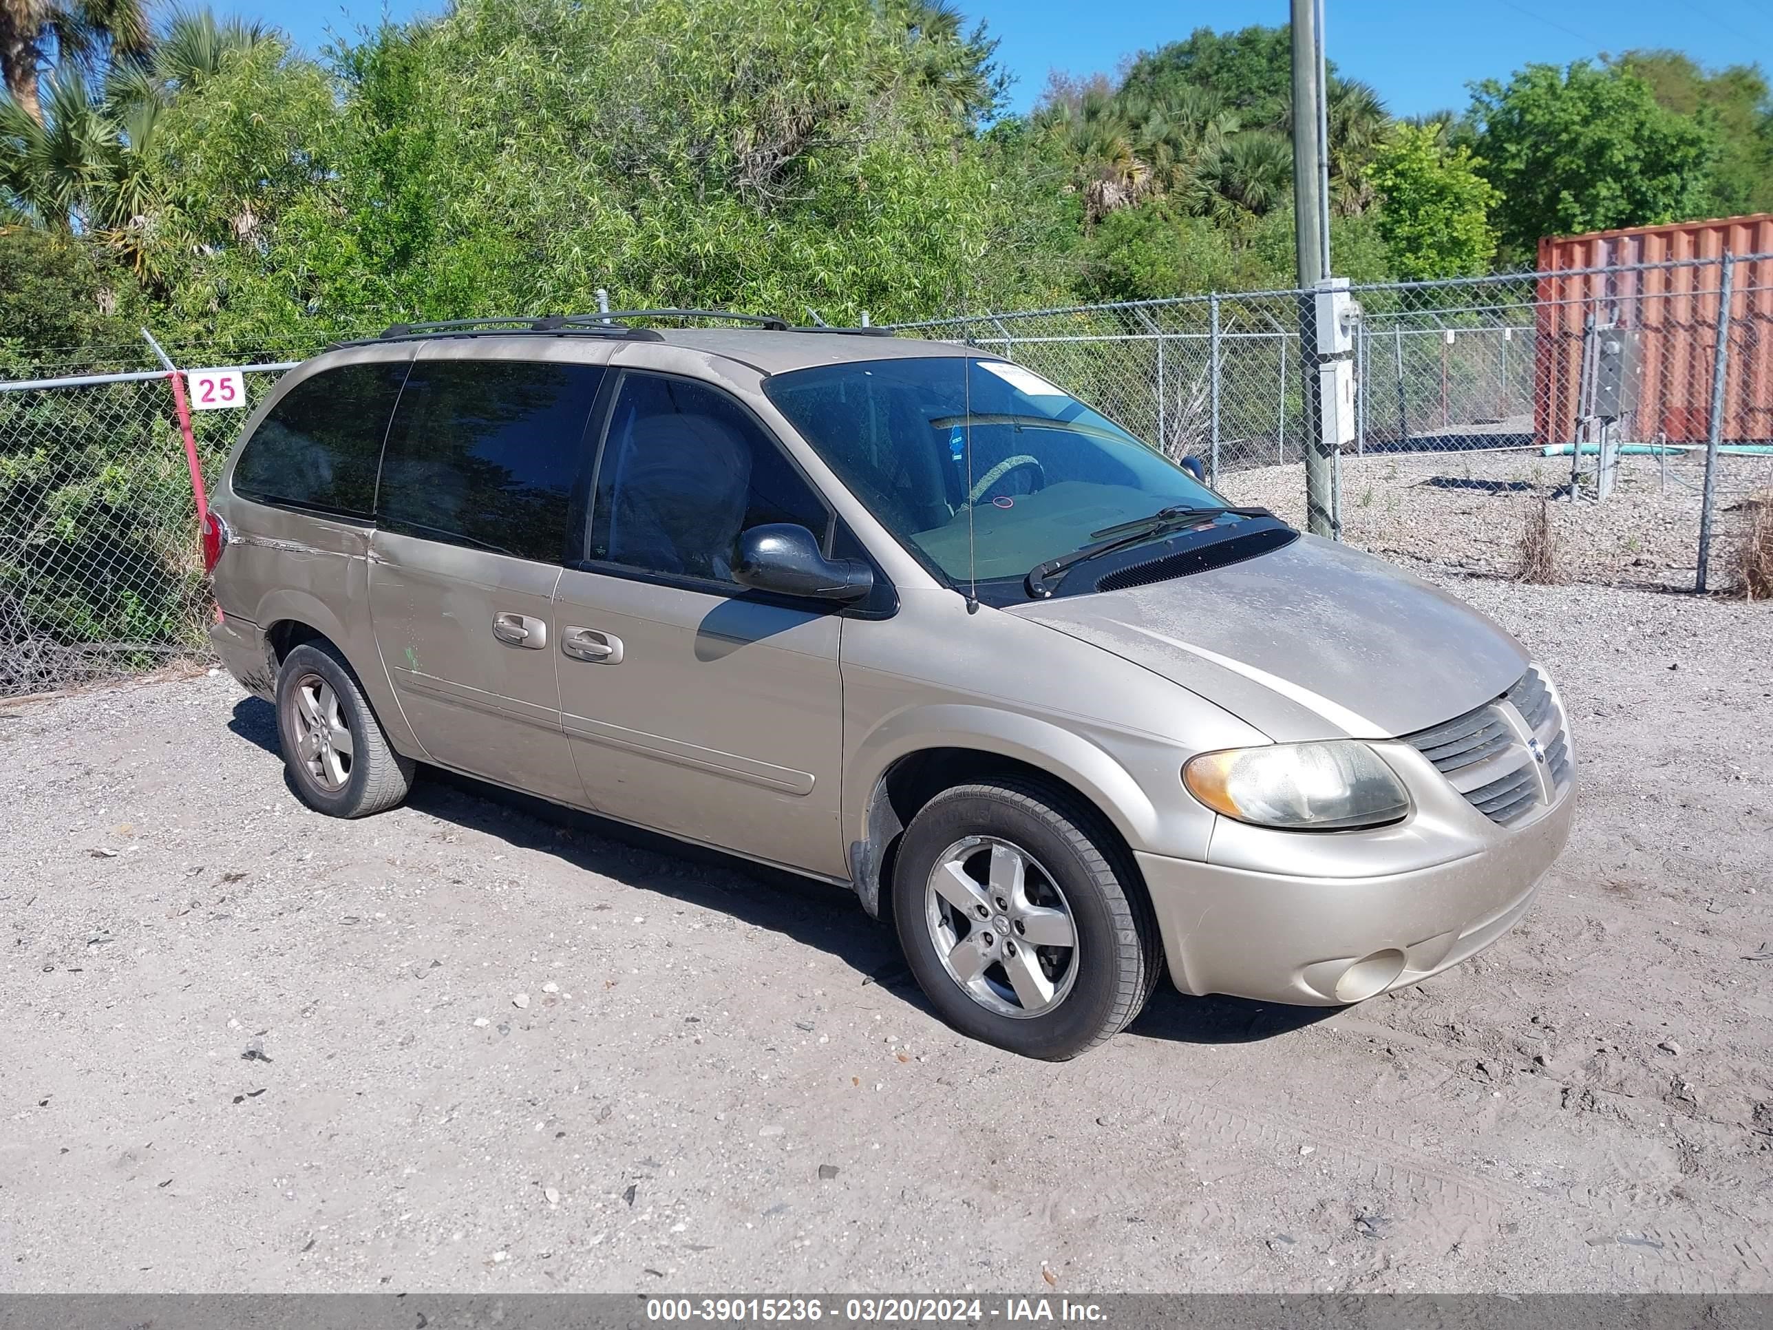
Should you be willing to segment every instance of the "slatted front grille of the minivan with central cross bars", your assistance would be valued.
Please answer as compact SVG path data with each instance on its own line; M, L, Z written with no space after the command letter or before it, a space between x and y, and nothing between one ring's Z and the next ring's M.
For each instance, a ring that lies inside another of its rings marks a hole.
M1404 743L1427 757L1473 809L1502 826L1539 812L1550 802L1546 786L1550 796L1557 796L1571 778L1564 716L1537 669L1528 669L1502 697L1406 734ZM1546 782L1539 778L1541 766Z

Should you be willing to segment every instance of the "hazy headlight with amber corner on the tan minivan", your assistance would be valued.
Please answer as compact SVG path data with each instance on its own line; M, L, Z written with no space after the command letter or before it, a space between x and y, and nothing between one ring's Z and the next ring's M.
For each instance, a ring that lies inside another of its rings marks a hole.
M1402 782L1356 739L1206 752L1183 766L1183 784L1215 812L1294 832L1381 826L1410 812Z

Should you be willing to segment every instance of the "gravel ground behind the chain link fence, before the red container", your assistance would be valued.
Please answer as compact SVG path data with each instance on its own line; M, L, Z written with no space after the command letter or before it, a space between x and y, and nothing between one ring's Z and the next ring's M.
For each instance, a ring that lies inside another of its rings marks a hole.
M1592 472L1594 459L1583 458ZM1567 582L1691 591L1704 458L1626 456L1605 504L1551 502ZM1362 550L1466 573L1512 575L1528 507L1569 486L1569 458L1516 452L1376 452L1342 458L1342 532ZM1711 585L1736 585L1748 505L1773 493L1773 458L1718 459ZM1298 463L1229 472L1225 491L1303 525Z

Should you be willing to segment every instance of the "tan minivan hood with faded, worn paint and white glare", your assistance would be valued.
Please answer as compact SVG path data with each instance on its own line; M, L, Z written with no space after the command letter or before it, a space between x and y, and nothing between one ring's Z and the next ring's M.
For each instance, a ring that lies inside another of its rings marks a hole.
M1011 614L1144 665L1278 743L1395 738L1527 670L1491 619L1372 555L1301 536L1239 564Z

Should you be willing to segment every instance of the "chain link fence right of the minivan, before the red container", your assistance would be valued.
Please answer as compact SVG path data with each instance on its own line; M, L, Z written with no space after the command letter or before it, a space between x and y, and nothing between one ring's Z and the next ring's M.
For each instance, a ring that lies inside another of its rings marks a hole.
M1741 585L1745 548L1773 543L1773 257L1353 296L1353 440L1335 452L1332 491L1340 539L1472 575L1681 591ZM1303 525L1307 298L1186 296L899 332L1000 351L1167 452L1199 456L1227 497Z

